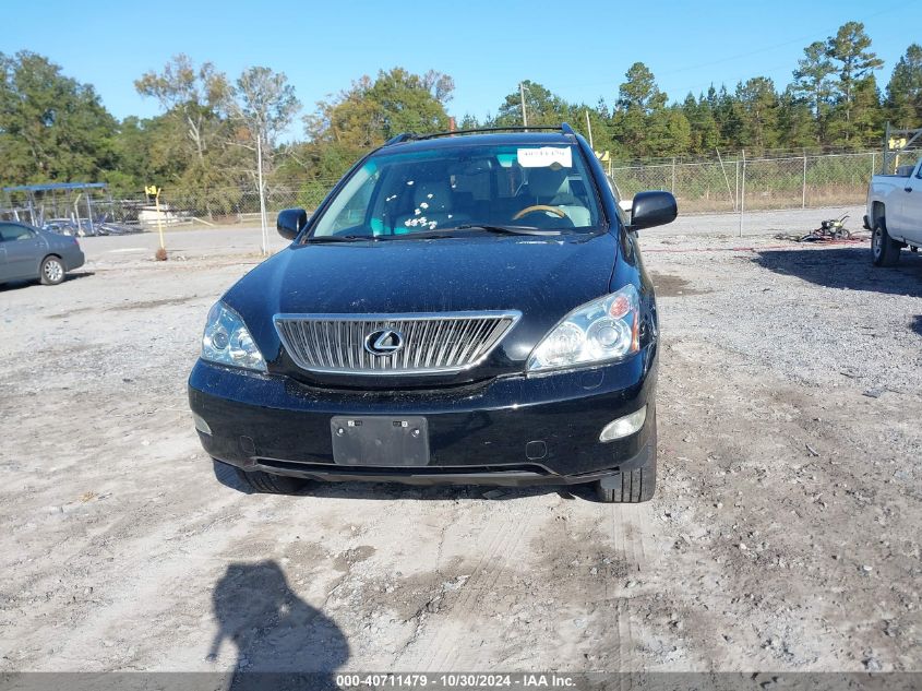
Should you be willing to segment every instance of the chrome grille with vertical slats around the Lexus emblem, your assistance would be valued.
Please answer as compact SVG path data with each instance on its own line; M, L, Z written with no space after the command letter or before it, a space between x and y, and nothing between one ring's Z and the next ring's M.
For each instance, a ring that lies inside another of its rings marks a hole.
M482 361L522 317L516 311L410 314L277 314L282 344L301 369L344 374L457 372ZM403 346L376 355L366 339L395 331Z

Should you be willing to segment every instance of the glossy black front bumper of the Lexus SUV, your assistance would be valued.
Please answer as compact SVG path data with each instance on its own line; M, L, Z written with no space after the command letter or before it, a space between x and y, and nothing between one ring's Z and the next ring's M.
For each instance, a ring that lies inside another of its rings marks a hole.
M591 370L429 391L318 389L199 360L189 402L211 430L199 432L205 451L244 469L409 484L583 482L644 465L655 453L655 356L654 345ZM647 419L638 432L599 441L606 425L644 405ZM429 464L336 464L335 415L424 416Z

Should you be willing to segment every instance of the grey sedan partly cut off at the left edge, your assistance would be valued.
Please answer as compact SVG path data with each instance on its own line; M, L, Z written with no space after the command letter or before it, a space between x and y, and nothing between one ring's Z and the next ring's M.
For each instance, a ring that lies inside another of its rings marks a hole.
M76 238L0 221L0 283L38 278L45 285L58 285L83 261Z

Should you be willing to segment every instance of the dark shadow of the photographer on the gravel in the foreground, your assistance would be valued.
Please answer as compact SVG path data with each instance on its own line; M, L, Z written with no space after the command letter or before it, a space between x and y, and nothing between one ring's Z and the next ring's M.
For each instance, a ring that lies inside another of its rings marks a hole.
M334 672L349 658L346 636L291 591L275 561L231 563L212 598L218 631L208 659L225 642L237 648L229 689L338 688Z

